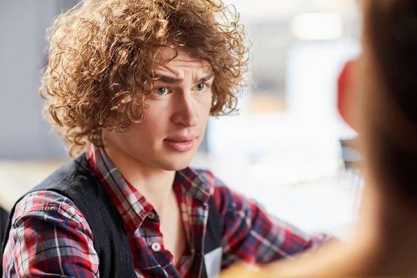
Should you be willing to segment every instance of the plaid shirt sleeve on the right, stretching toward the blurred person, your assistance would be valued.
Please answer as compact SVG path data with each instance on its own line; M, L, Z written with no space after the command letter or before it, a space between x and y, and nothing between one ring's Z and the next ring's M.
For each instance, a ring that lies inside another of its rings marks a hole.
M214 198L224 221L223 268L235 261L270 263L317 247L332 238L325 234L306 234L268 215L261 205L229 190L218 179Z

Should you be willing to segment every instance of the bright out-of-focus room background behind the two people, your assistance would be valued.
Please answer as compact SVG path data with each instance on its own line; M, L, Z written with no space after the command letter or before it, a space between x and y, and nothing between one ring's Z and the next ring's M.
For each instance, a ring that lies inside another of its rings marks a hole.
M69 159L42 119L38 87L45 29L76 2L0 3L0 223L19 195ZM360 51L357 1L226 3L252 40L256 86L240 99L239 115L209 120L192 165L301 229L345 236L357 218L360 156L336 110L336 81Z

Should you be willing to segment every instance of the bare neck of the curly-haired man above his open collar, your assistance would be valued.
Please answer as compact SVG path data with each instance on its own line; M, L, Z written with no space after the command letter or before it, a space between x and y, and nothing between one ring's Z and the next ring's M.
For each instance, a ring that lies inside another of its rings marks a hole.
M175 172L157 169L135 158L106 147L106 154L124 179L138 190L154 206L158 213L172 206L172 184Z

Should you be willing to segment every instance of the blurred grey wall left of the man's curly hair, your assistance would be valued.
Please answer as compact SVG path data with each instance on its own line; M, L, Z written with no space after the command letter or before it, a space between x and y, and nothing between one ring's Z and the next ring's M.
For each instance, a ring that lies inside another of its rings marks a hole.
M45 29L59 10L75 2L0 2L0 159L65 156L42 119L38 88L47 58Z

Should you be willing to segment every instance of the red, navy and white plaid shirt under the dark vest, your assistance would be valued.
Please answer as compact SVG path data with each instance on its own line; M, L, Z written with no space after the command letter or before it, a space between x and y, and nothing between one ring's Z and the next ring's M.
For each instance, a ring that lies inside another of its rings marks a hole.
M178 171L173 188L183 215L188 248L179 269L164 249L158 214L111 163L104 149L89 147L87 157L101 179L129 236L137 277L199 277L203 257L208 198L213 195L224 221L222 268L235 261L268 263L327 240L309 236L270 217L255 202L229 190L211 172L188 167ZM3 257L4 277L99 277L93 234L79 208L51 191L28 194L16 206ZM155 252L155 244L161 250Z

